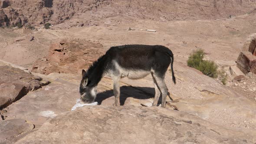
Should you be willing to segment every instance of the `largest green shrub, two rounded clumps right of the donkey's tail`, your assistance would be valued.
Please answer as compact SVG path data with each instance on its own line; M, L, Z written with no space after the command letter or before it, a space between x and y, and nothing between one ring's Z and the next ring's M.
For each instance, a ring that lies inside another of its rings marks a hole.
M218 66L213 61L203 60L204 55L202 49L194 51L187 60L187 66L200 70L204 75L217 78Z

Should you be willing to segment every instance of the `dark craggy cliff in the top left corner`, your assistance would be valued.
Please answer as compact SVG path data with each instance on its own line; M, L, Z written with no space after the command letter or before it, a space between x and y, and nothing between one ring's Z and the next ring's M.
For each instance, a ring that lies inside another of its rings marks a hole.
M93 10L102 1L89 0L1 0L0 10L7 15L9 23L16 25L21 23L42 24L51 21L53 24L69 20L75 13Z

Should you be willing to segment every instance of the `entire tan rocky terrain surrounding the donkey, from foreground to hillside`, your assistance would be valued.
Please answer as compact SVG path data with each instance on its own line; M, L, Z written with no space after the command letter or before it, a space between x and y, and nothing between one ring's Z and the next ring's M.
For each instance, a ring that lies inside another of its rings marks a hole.
M256 143L256 77L230 73L256 33L255 2L0 0L0 7L1 25L36 27L0 28L0 144ZM44 29L46 22L54 25ZM169 70L165 80L173 101L143 107L154 98L151 76L122 79L115 108L112 80L104 77L100 105L71 111L81 70L124 44L173 51L177 84ZM226 85L187 67L199 48L224 70Z

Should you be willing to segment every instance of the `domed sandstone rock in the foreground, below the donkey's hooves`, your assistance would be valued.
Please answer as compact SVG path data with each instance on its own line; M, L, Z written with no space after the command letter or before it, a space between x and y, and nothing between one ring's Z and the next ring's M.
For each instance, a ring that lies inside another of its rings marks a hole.
M86 106L49 119L16 144L246 144L255 140L253 134L247 136L181 111Z

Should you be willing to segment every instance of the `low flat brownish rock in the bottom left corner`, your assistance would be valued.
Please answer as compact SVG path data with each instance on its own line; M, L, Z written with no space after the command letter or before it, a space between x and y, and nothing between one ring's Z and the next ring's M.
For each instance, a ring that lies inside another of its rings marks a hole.
M0 142L15 137L19 134L33 130L34 125L26 123L26 120L16 118L0 122Z

